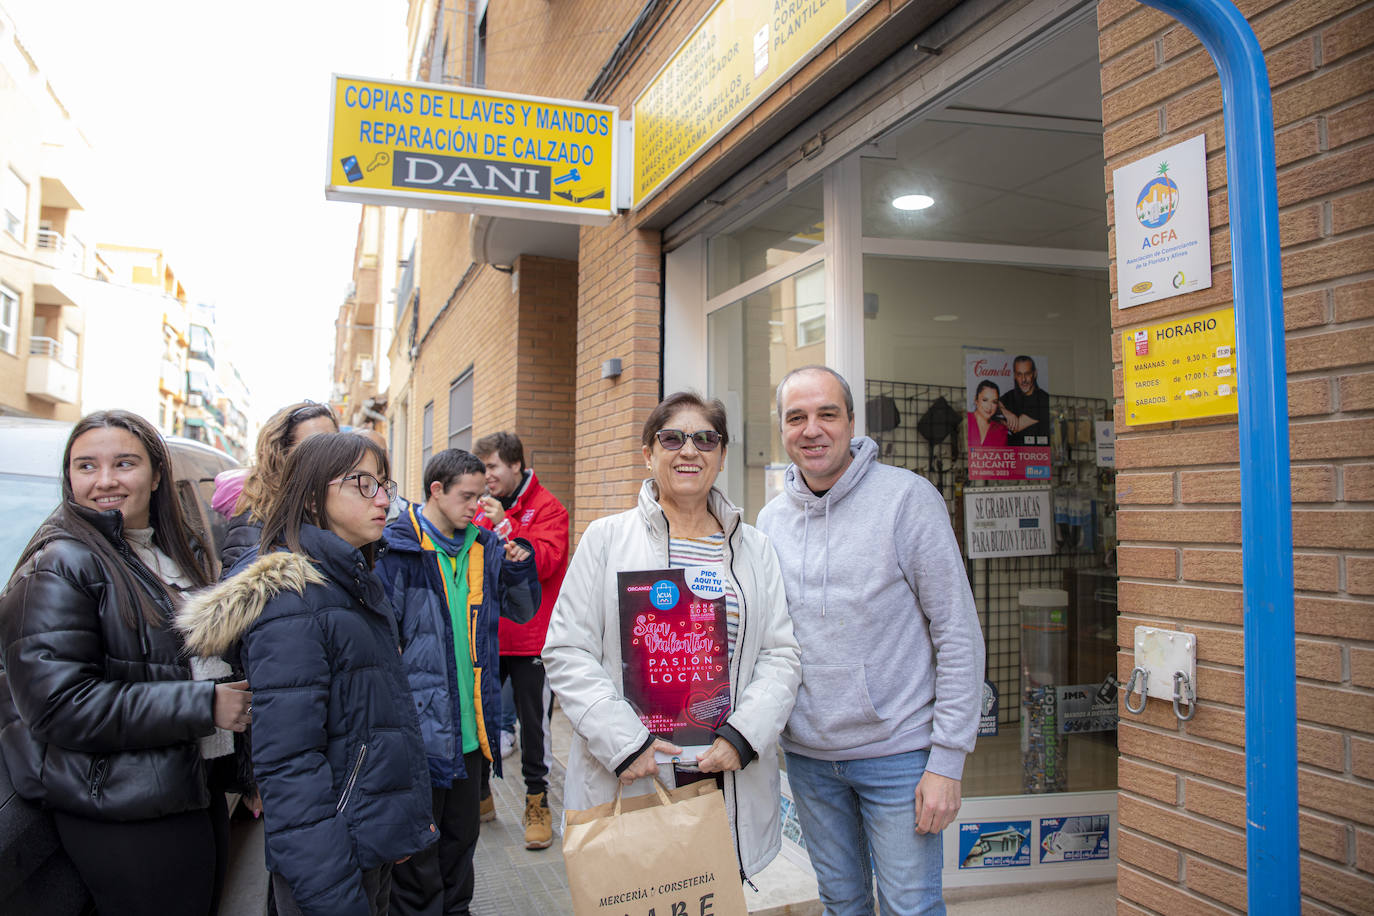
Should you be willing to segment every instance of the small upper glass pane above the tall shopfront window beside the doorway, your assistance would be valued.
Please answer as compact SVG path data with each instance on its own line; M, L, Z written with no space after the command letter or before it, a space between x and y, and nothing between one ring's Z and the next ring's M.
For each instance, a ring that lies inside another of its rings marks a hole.
M822 191L819 180L811 181L712 236L706 250L706 297L720 295L823 244Z

